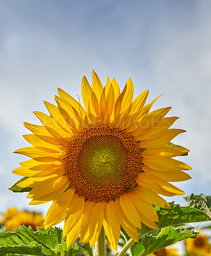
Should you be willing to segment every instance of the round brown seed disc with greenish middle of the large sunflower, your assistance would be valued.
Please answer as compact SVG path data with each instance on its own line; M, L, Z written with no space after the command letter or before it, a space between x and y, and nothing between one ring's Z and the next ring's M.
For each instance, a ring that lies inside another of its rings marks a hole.
M66 176L86 200L109 202L135 189L141 172L138 142L115 125L92 124L69 141Z

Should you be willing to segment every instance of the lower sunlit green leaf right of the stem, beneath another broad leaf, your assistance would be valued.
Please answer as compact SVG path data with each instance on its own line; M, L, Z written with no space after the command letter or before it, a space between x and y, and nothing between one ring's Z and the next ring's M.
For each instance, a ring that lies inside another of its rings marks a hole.
M165 227L154 230L140 238L140 243L132 246L133 255L145 256L149 253L156 252L170 244L176 243L187 237L195 238L197 233L193 233L195 228L188 226Z

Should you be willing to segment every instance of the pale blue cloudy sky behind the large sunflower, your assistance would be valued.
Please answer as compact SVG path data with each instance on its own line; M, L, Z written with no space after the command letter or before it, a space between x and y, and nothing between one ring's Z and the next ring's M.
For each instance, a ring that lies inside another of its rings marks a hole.
M135 96L150 89L149 101L163 93L155 108L173 107L175 127L187 130L173 142L191 150L182 161L193 179L178 186L210 195L210 12L209 0L1 0L0 211L47 211L8 190L18 180L11 171L27 159L12 152L28 146L23 122L37 124L32 111L48 113L43 100L54 103L57 87L78 99L92 69L121 89L131 77Z

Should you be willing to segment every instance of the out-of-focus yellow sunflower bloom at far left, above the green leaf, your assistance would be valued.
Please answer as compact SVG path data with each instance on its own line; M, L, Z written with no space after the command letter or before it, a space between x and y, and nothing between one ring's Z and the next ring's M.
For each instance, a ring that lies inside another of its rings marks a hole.
M33 231L36 231L36 227L43 227L43 221L44 217L40 213L18 211L15 207L8 208L3 216L1 216L1 223L9 231L13 231L20 225L25 227L31 226Z

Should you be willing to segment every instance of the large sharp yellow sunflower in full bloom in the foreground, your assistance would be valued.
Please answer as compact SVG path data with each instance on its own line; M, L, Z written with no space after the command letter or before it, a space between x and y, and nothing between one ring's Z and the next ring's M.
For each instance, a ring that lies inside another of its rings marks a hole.
M64 222L68 246L80 234L80 243L93 246L102 227L117 250L120 227L138 242L142 223L158 228L153 205L170 208L159 195L184 195L170 182L187 180L185 163L172 159L189 152L167 145L182 129L169 129L176 116L164 117L171 108L150 112L159 98L145 105L149 90L133 100L129 78L120 93L117 81L105 87L92 72L92 87L82 79L79 102L60 88L57 106L44 102L50 116L35 111L42 125L25 123L33 134L24 135L33 147L15 151L31 159L13 172L28 177L18 183L33 188L29 204L50 201L45 228ZM161 95L160 95L161 96Z

